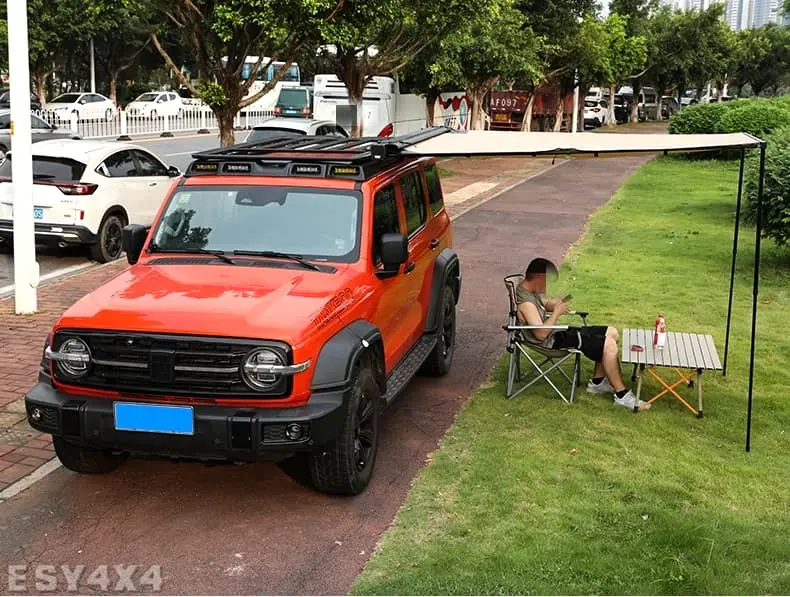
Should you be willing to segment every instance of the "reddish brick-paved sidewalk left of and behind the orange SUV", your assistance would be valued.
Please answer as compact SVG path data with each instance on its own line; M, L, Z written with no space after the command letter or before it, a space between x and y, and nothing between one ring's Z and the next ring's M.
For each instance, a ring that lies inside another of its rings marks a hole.
M439 167L447 210L457 217L551 167L551 160L456 158L442 160ZM13 296L0 299L0 337L8 339L0 353L0 499L3 490L54 457L50 436L28 425L24 405L25 392L36 382L47 334L70 305L126 267L122 259L43 284L38 290L39 312L32 316L14 313Z

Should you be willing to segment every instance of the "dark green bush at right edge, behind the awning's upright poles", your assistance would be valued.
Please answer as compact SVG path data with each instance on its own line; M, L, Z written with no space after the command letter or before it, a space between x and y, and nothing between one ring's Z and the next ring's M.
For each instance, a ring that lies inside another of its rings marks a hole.
M763 181L763 236L777 245L790 243L790 126L775 130L766 138ZM757 220L759 152L751 152L744 169L744 218Z

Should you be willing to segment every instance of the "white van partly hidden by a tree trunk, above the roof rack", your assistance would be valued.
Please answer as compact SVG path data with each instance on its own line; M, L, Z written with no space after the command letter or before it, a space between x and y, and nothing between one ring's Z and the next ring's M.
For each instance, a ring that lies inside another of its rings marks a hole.
M348 90L337 75L316 75L313 80L313 118L331 120L351 130L351 117L338 106L350 106ZM362 95L362 134L390 137L395 127L395 80L373 77Z

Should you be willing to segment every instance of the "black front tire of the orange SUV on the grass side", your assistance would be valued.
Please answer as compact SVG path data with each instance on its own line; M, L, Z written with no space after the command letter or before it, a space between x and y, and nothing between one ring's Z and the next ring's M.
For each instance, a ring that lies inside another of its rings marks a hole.
M357 364L351 383L340 433L323 451L308 457L313 486L334 495L362 493L370 482L378 452L381 392L373 368Z

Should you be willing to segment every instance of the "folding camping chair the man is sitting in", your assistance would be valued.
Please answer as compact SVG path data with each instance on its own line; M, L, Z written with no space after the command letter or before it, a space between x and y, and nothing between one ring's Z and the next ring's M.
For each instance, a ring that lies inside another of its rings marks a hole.
M505 288L508 291L510 298L510 314L508 315L508 324L502 326L507 332L507 351L510 353L510 363L507 372L507 398L515 398L518 394L537 383L541 379L545 380L554 391L559 394L567 404L573 402L573 396L576 393L579 379L581 377L581 351L575 348L546 348L540 344L536 344L529 340L524 330L567 330L567 325L521 325L518 320L518 304L516 303L516 287L524 279L522 274L511 274L505 277ZM582 318L583 325L587 325L587 311L571 311L569 315L578 315ZM532 358L530 352L535 352L539 356L544 357L541 363L538 363ZM518 390L514 391L513 386L515 382L522 381L521 373L521 356L525 356L536 370L536 375L527 381ZM569 376L568 373L562 368L563 364L573 359L573 373ZM548 369L544 369L547 364L551 364ZM570 384L570 396L567 397L552 381L550 374L558 371Z

